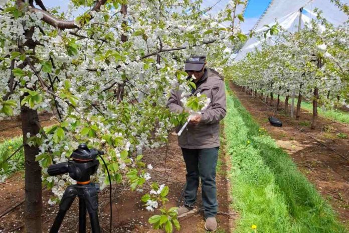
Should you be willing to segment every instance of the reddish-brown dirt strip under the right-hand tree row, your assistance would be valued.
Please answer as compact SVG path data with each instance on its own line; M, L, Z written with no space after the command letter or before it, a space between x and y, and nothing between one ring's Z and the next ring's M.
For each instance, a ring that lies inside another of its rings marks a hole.
M349 135L349 125L319 117L317 128L311 130L312 113L302 109L298 121L284 117L283 110L275 113L274 117L280 119L283 125L281 128L273 127L268 122L268 116L274 113L270 102L265 104L260 98L246 94L232 83L230 87L254 120L266 129L291 156L298 169L316 186L323 198L329 201L339 219L349 225L349 160L345 159L349 158L349 139L336 137L337 133ZM272 104L276 106L276 100ZM283 107L284 103L280 108Z

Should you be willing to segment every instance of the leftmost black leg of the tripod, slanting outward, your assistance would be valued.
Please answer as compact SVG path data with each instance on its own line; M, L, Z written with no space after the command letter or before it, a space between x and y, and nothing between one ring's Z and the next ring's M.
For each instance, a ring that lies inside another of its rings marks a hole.
M72 205L76 195L77 195L77 191L74 187L69 186L64 191L63 197L62 197L61 202L59 204L59 211L57 213L55 221L53 222L50 233L58 233L58 230L62 224L63 218L64 218L67 210Z

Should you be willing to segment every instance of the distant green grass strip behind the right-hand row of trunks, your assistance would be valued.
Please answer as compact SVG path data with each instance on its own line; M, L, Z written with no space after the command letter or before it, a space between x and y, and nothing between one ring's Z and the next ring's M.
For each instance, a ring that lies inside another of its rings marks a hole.
M294 98L294 105L296 106L297 104L297 97ZM280 96L280 101L285 102L285 97ZM291 98L289 99L288 103L291 103ZM307 101L302 101L301 103L301 108L312 112L312 103L307 102ZM349 112L347 111L342 111L340 109L334 110L334 109L327 109L327 110L322 110L320 107L317 107L317 113L321 115L321 117L325 117L327 119L330 119L332 121L337 121L341 123L346 123L349 124Z

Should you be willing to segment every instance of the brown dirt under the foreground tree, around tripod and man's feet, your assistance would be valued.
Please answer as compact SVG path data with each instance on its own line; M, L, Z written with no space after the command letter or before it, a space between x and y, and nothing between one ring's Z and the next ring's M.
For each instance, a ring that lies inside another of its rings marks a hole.
M144 162L151 164L153 169L150 171L152 180L159 184L165 183L169 185L169 207L177 206L182 190L185 185L185 164L182 157L182 151L177 144L177 136L175 133L169 135L169 142L166 147L146 150L144 153ZM221 153L222 154L222 153ZM222 154L223 155L223 154ZM225 161L225 157L221 156L222 165L217 174L217 189L219 211L217 220L221 232L231 232L234 226L236 213L230 210L229 190L230 184L226 178L229 163ZM21 204L24 197L24 178L22 173L17 173L7 180L7 184L0 184L0 203L4 203L0 207L0 215L7 210L12 209L19 204L11 212L1 217L0 232L24 232L23 230L23 212L24 205ZM112 232L161 232L152 230L147 219L157 214L145 210L144 205L140 201L140 197L150 190L145 186L144 192L131 192L127 185L118 185L113 187L112 192ZM43 232L48 232L58 211L58 204L50 206L48 199L52 193L48 190L43 191ZM201 206L201 191L198 193L197 206ZM104 189L99 194L100 212L99 220L103 229L102 232L109 232L109 189ZM180 203L181 205L183 203ZM87 218L88 219L88 218ZM204 217L202 212L187 216L180 219L181 230L175 232L196 233L205 232ZM89 223L87 223L89 225ZM76 232L78 227L78 202L74 201L70 211L67 213L61 232ZM90 231L88 231L90 232Z

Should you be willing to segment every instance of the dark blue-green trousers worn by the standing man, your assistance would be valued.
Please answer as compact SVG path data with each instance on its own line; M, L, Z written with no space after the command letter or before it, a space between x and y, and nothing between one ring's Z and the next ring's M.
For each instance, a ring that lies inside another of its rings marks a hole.
M184 191L185 206L191 208L195 204L200 177L206 218L217 215L216 166L218 149L219 147L207 149L182 148L187 167L187 185Z

